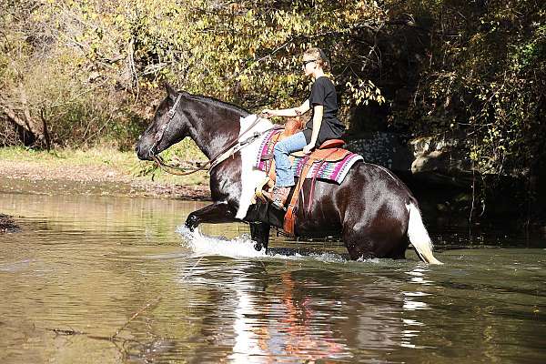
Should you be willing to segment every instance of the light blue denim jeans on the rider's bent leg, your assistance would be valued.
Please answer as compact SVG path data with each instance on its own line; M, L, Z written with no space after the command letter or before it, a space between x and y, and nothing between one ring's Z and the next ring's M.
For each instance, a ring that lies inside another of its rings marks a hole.
M293 136L288 136L275 145L273 148L273 156L275 156L275 174L277 175L275 186L294 186L294 171L290 166L290 159L288 159L288 156L290 153L301 150L305 146L307 146L307 141L302 132L296 133Z

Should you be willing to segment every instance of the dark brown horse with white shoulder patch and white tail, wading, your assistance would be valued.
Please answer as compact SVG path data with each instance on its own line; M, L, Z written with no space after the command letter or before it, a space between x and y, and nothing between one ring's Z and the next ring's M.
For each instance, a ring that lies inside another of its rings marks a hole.
M246 222L255 248L267 252L270 228L282 228L284 212L269 204L252 203L255 187L266 177L253 167L253 161L272 123L249 117L241 107L215 98L166 87L167 96L138 138L137 157L157 160L157 154L189 136L212 162L213 202L190 213L185 225L193 231L201 223ZM298 201L295 236L339 237L353 260L405 258L411 243L423 261L442 264L432 254L416 198L387 168L358 161L340 184L319 179L315 183L311 207L304 208L301 198ZM310 184L306 179L302 190L308 191Z

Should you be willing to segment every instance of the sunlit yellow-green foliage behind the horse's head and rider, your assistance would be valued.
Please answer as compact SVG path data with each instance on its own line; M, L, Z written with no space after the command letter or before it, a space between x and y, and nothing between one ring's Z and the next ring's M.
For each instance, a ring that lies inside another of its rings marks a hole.
M128 147L166 80L252 110L294 106L308 94L300 61L311 45L329 50L346 109L384 101L352 56L387 17L375 1L28 3L5 0L0 82L12 104L18 84L33 91L28 108L45 114L56 144Z

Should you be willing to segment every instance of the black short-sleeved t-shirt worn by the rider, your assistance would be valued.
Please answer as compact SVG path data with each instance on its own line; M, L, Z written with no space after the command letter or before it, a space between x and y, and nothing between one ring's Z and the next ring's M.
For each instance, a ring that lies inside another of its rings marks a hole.
M311 134L313 133L314 106L317 105L324 106L324 114L322 116L322 123L320 124L319 137L317 138L316 145L316 147L319 147L326 140L339 138L339 136L342 136L345 132L345 126L341 124L337 116L338 96L336 95L336 87L326 76L317 78L311 87L309 106L313 112L311 113L311 119L303 129L303 134L305 135L308 144L311 142Z

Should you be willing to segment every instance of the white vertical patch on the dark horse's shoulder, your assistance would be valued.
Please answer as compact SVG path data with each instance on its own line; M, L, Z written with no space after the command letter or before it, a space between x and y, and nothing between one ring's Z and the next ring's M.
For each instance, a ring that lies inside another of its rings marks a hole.
M241 117L239 136L254 123L257 117L258 116L256 115ZM273 124L271 124L268 119L261 118L258 124L252 126L252 129L249 130L245 136L249 136L254 132L263 132L268 130L271 126L273 126ZM245 138L245 136L243 138ZM247 216L248 207L250 207L250 202L252 201L252 197L254 197L258 183L263 181L267 176L266 172L254 167L254 161L258 157L259 146L265 137L266 134L259 136L252 143L239 151L241 154L241 197L239 199L239 207L235 217L241 220Z

